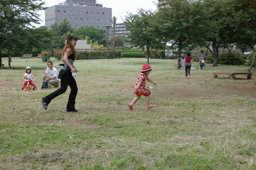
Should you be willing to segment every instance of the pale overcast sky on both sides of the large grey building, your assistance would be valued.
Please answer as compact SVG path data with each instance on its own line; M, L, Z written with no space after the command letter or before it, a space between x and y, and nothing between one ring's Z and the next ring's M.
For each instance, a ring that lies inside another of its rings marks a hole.
M58 5L58 3L66 2L66 0L44 0L44 7L50 7L53 5ZM99 0L99 4L103 7L112 8L112 16L117 18L117 23L123 22L125 19L126 12L136 14L138 8L143 8L145 10L156 10L156 0ZM41 15L41 24L35 25L36 27L41 27L45 25L44 11L39 11Z

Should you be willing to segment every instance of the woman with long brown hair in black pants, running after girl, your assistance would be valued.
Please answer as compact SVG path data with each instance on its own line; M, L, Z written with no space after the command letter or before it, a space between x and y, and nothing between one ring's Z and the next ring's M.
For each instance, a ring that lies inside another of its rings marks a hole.
M60 88L52 94L45 96L42 98L42 105L44 109L47 109L47 106L50 104L51 100L55 97L63 94L68 86L70 87L71 91L68 98L68 104L66 107L67 112L78 112L77 109L75 109L75 100L77 95L77 85L76 80L72 76L72 73L76 73L76 69L73 67L74 60L77 59L76 57L76 41L77 37L74 36L67 36L67 43L66 46L63 48L63 54L62 54L62 61L63 61L63 67L60 70L58 78L61 79L60 81Z

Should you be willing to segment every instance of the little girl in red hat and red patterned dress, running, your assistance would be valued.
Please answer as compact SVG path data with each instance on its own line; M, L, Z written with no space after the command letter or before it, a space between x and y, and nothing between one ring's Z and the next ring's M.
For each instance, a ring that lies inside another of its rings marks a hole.
M146 80L150 83L153 83L155 86L157 85L156 82L148 78L148 74L152 70L151 66L149 64L144 64L142 66L142 70L138 76L138 80L136 81L134 85L134 94L137 96L132 100L131 104L128 104L130 111L133 109L133 105L140 99L140 96L146 96L146 108L150 109L153 108L154 106L149 105L149 95L151 92L147 89L146 87Z

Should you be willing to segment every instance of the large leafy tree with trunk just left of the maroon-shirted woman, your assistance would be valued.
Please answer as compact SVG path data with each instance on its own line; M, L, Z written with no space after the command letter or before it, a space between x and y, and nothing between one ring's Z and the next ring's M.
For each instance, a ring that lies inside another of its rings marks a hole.
M204 44L204 11L199 1L167 0L159 6L152 24L162 41L170 41L178 49L178 63L181 50ZM180 69L180 65L177 67Z

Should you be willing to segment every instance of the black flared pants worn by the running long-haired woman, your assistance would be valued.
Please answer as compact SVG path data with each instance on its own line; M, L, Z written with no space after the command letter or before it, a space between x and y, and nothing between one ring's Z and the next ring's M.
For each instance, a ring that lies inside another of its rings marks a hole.
M63 73L60 81L60 88L52 92L50 95L45 96L44 98L42 98L42 100L48 105L52 99L63 94L67 90L68 86L70 87L71 91L69 94L66 109L68 109L69 111L73 111L75 109L75 101L78 89L76 85L76 80L72 76L72 73L69 71L65 71L65 73Z

